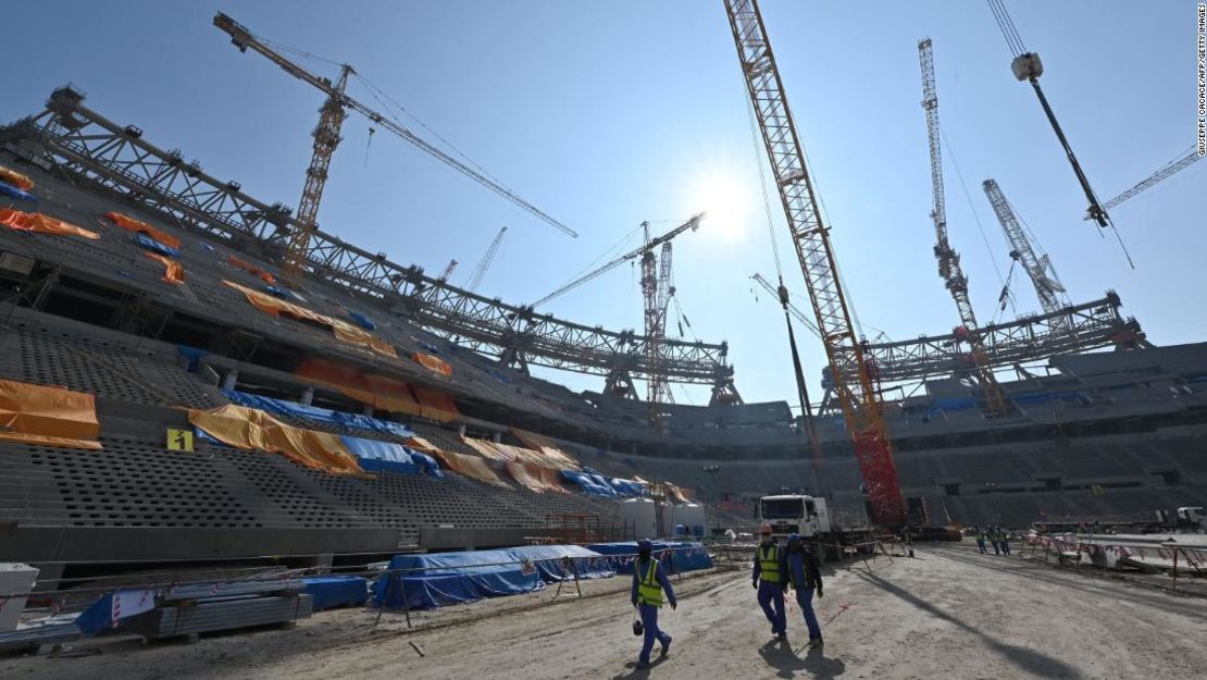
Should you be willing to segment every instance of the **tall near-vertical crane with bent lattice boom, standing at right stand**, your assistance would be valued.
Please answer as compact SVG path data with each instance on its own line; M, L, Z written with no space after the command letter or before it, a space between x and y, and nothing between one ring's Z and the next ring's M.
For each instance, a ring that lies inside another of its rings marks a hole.
M947 242L947 208L943 191L943 146L939 136L939 95L934 86L934 51L931 39L917 43L917 58L922 68L922 110L926 111L926 132L931 147L931 184L932 207L931 220L934 222L934 257L939 263L939 277L943 278L956 302L960 313L961 329L957 335L968 339L970 349L970 368L975 372L981 394L985 397L985 412L989 415L1002 415L1008 411L1002 388L993 377L993 371L984 365L985 348L980 339L980 326L968 298L968 277L960 266L960 254Z

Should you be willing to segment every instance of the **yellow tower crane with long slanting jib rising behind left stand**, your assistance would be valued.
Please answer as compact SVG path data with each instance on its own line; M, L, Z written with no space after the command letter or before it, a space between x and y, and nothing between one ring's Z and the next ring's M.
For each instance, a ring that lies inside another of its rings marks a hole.
M298 228L295 229L290 238L288 250L285 257L285 267L281 272L281 278L285 283L297 285L305 267L305 262L309 256L310 237L319 228L319 203L322 200L322 190L327 184L327 169L331 165L331 156L339 145L339 133L348 110L361 114L374 126L390 130L403 140L409 141L437 161L441 161L479 185L489 188L498 196L502 196L505 199L520 207L525 211L555 227L562 233L576 238L578 237L573 229L562 225L558 220L554 220L512 190L488 178L483 174L484 172L474 170L420 138L409 128L402 126L391 117L379 114L361 101L349 97L345 93L348 77L354 75L356 71L348 64L340 66L339 79L336 82L332 82L330 79L311 74L310 71L295 64L292 60L269 47L246 27L239 24L222 12L214 16L214 25L229 35L231 42L238 47L240 52L246 52L249 48L258 52L284 69L285 72L327 95L327 101L320 110L319 126L314 130L314 153L310 158L310 167L307 169L305 186L302 190L302 199L298 203L297 215L295 216Z

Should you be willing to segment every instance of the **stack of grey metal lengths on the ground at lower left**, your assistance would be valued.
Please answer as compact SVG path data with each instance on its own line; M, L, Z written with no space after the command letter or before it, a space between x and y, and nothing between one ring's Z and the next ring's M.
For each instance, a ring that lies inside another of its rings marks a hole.
M182 606L158 606L130 617L122 629L148 639L196 635L309 618L314 598L297 595L234 595L209 598Z

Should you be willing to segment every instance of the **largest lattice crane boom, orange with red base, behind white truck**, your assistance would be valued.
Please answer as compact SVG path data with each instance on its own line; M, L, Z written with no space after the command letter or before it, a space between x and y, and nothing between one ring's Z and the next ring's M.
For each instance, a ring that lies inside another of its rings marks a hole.
M905 522L905 502L893 464L884 402L851 321L829 227L822 222L763 16L756 0L724 0L724 4L746 91L758 118L826 356L833 367L834 395L851 435L871 518L899 527ZM786 298L782 296L781 301L786 303Z

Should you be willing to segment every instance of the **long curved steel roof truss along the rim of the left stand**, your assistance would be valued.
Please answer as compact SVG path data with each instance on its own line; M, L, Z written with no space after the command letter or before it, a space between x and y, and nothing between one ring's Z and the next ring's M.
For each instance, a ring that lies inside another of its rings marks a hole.
M206 174L197 161L186 162L180 151L147 143L141 129L106 120L69 87L54 91L37 116L0 129L0 143L77 185L111 191L258 257L284 261L290 234L298 228L290 208L257 200L238 182ZM643 378L651 372L648 341L632 331L583 326L490 300L323 231L310 239L305 269L311 279L377 298L424 329L511 366ZM733 379L727 343L663 339L659 345L657 370L667 382L716 387Z

